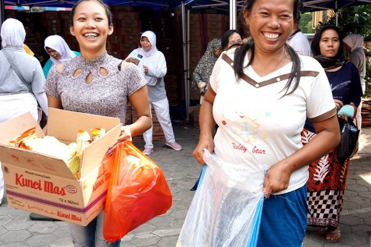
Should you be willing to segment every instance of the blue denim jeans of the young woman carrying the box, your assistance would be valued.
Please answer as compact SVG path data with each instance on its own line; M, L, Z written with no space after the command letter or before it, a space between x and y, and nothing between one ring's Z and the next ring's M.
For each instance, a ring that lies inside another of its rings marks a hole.
M103 237L104 211L100 213L87 226L79 226L71 223L70 234L75 247L119 247L121 240L108 242Z

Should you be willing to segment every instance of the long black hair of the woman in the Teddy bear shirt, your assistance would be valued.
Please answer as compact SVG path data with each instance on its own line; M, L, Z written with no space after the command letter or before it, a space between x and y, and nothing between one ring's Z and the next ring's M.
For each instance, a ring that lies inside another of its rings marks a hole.
M255 0L246 0L245 1L246 10L251 12L251 9L254 3L255 3ZM294 5L293 6L293 19L295 20L296 15L299 13L298 12L299 1L293 0L293 5ZM298 54L295 52L294 49L292 49L291 46L289 46L288 44L285 44L285 49L292 60L290 78L288 82L286 83L285 87L282 89L282 91L286 90L285 95L288 95L288 94L293 93L293 91L295 91L299 86L299 81L300 81L300 76L301 76L301 61L300 61ZM246 43L243 43L243 45L239 49L237 49L236 53L234 54L234 73L236 74L238 78L243 77L243 69L245 68L243 66L243 63L244 63L244 59L245 59L247 51L251 52L251 58L249 60L249 63L246 65L246 67L249 67L252 64L254 60L254 55L255 55L254 39L249 39ZM296 79L295 85L293 89L290 92L288 92L294 79Z

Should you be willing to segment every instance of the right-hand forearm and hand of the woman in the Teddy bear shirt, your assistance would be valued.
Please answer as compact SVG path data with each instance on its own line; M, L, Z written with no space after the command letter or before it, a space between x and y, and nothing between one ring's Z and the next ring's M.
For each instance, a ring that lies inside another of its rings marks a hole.
M317 133L316 136L304 147L272 166L267 172L263 184L266 197L269 197L271 193L285 190L289 186L293 171L319 160L339 144L340 128L336 115L313 123L313 125Z

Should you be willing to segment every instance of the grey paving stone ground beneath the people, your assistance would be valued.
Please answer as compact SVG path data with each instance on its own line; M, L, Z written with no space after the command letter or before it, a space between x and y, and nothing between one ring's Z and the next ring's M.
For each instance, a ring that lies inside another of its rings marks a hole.
M192 126L174 125L177 141L183 150L174 151L163 141L154 142L150 158L164 171L173 193L173 206L122 238L121 247L175 247L181 226L194 192L201 167L192 156L198 131ZM135 143L139 149L143 142ZM308 227L304 247L371 247L371 128L362 128L358 155L349 166L347 190L342 211L342 237L327 243L316 228ZM29 213L0 204L0 247L73 247L67 223L33 221ZM237 247L237 246L236 246Z

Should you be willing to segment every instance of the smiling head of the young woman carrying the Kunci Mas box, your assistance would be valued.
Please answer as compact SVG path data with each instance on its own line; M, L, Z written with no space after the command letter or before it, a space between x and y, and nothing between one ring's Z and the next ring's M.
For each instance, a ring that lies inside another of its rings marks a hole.
M95 0L82 1L75 9L70 32L79 42L82 53L106 49L107 36L113 33L104 7Z

